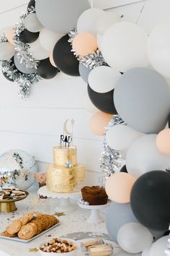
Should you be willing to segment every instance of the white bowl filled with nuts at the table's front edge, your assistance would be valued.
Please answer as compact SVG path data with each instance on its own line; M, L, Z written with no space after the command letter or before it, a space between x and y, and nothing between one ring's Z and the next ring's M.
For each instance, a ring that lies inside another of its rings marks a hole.
M58 255L75 256L79 252L79 243L73 239L53 238L49 242L40 245L40 255L48 256L51 253Z

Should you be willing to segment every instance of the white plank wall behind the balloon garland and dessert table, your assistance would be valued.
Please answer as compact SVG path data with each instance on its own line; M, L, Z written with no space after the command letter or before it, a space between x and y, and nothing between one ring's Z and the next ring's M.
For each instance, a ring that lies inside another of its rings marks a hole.
M169 0L94 0L104 8L115 6L123 20L138 22L148 33L154 25L169 17ZM128 4L128 2L133 4ZM26 8L25 0L0 0L0 29L17 22ZM118 5L121 7L117 7ZM30 98L22 101L17 85L0 75L0 154L20 148L35 155L40 171L53 161L52 148L59 142L63 121L75 119L74 144L79 149L79 161L87 170L86 183L94 184L99 176L99 157L102 137L91 134L88 120L91 116L81 108L81 96L86 84L81 78L58 74L54 80L43 80L32 88Z

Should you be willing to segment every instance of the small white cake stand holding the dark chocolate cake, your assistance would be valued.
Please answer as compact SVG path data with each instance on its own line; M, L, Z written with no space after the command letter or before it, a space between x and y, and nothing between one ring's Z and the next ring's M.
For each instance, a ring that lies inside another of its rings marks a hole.
M106 205L84 205L83 203L81 203L80 200L77 203L80 208L91 210L91 214L89 218L86 220L88 223L98 224L104 222L104 218L102 218L102 216L100 215L99 210L107 208L110 203L109 201Z

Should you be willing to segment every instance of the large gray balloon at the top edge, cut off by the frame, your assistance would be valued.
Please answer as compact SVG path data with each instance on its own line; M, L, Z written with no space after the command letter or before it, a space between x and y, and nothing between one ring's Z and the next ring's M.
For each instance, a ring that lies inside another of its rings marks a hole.
M40 23L61 34L75 28L81 13L89 8L88 0L37 0L35 4Z

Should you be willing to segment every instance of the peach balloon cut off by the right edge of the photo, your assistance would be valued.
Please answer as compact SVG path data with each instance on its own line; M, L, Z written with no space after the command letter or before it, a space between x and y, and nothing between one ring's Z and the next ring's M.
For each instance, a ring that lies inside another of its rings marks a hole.
M161 153L170 155L170 129L163 129L158 133L156 146Z

